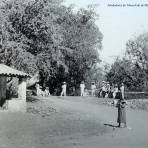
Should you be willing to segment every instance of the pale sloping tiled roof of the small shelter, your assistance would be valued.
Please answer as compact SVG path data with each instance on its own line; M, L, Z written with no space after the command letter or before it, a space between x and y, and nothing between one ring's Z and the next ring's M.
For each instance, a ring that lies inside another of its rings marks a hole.
M16 70L4 64L0 64L0 75L12 77L30 77L29 74L26 74L22 71Z

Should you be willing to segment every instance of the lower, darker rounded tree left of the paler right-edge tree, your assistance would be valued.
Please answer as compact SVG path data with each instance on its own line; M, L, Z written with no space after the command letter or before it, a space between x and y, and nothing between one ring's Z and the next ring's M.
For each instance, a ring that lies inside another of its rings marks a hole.
M117 59L107 73L107 81L112 84L124 83L129 90L141 90L143 80L141 79L141 69L133 65L126 59Z

